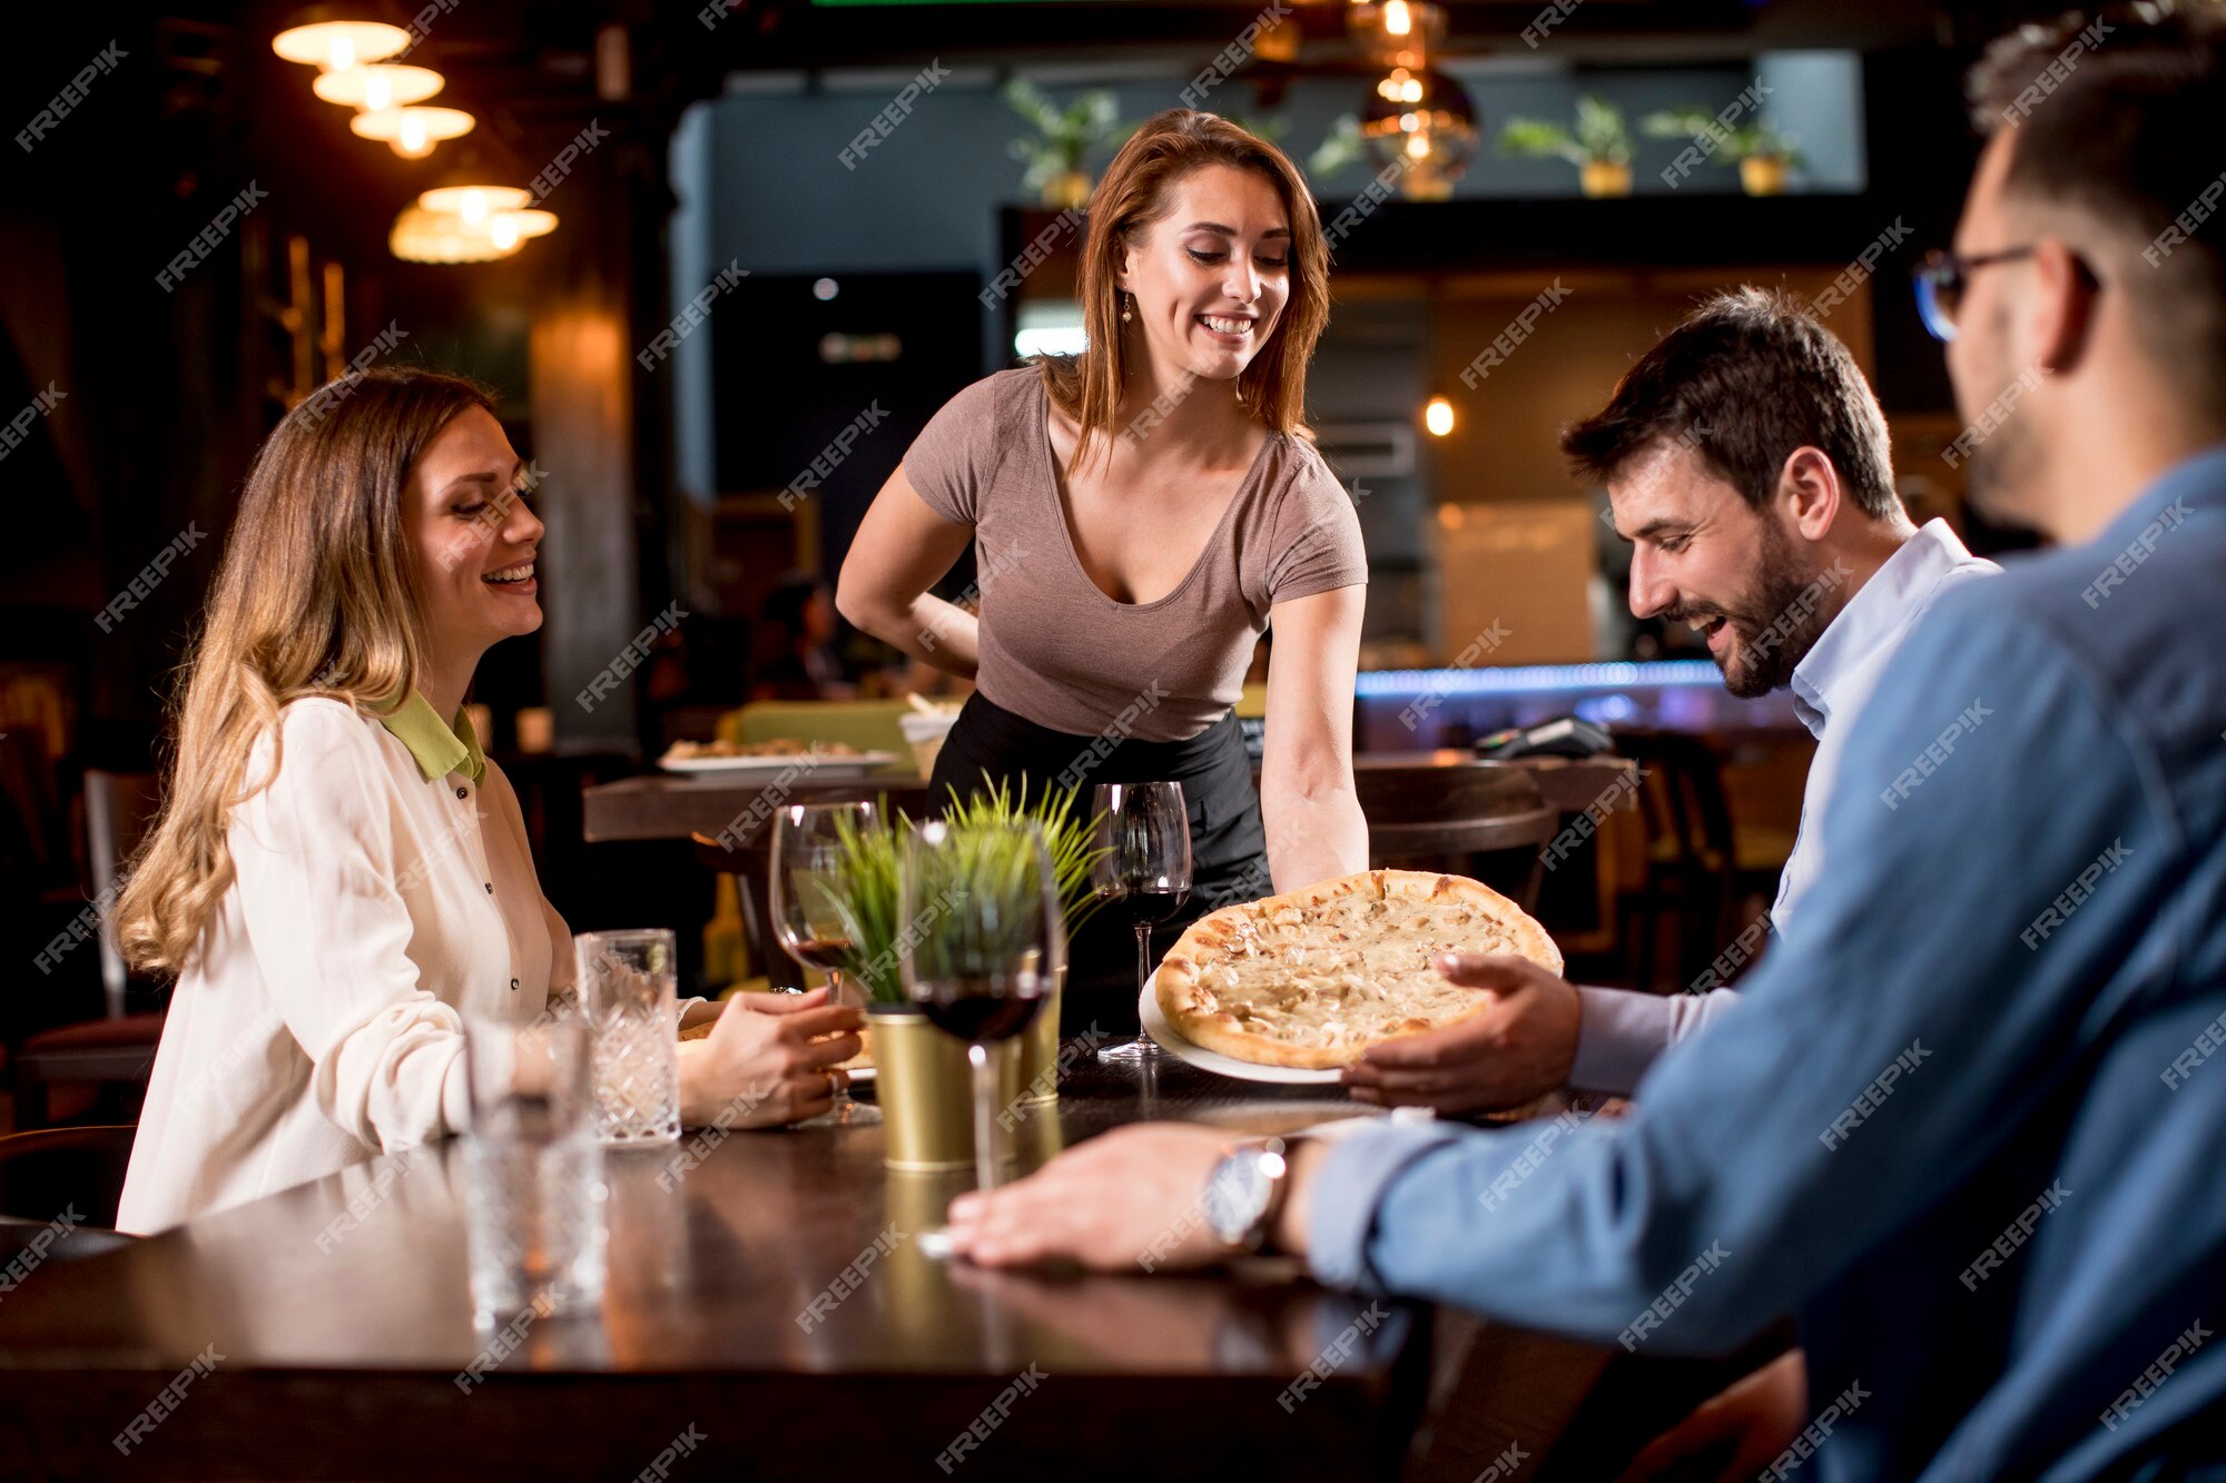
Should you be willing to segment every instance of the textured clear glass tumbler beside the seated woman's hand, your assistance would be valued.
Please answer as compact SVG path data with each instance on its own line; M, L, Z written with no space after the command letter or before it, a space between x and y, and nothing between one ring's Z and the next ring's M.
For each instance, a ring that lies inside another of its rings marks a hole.
M594 1113L605 1145L681 1136L681 1027L670 931L581 933L579 995L594 1033Z

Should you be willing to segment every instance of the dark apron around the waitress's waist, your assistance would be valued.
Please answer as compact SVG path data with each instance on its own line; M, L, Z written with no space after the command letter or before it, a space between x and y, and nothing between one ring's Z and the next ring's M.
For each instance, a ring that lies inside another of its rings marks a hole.
M977 690L935 757L930 806L946 808L953 793L979 793L984 773L1011 788L1026 779L1033 802L1095 744L1097 737L1037 726ZM1269 895L1267 831L1235 715L1224 715L1189 742L1120 739L1082 777L1077 813L1089 817L1093 788L1113 782L1180 782L1191 813L1191 897L1171 920L1153 926L1153 962L1215 906ZM1091 1024L1113 1038L1135 1033L1135 929L1117 911L1100 911L1066 944L1060 1033L1080 1035Z

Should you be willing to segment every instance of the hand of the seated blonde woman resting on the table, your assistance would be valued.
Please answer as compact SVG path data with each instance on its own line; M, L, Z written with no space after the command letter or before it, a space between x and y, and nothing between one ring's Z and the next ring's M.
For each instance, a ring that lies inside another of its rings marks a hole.
M681 1042L686 1127L777 1127L815 1118L848 1084L866 1015L810 993L737 993L701 1040ZM837 1080L841 1078L841 1080Z

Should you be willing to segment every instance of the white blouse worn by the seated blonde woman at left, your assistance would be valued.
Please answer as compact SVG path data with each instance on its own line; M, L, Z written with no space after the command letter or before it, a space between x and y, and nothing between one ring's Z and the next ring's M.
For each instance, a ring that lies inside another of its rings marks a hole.
M472 782L476 746L447 735L421 766L334 699L292 701L280 730L276 782L232 811L236 880L171 993L125 1231L461 1129L463 1015L539 1013L572 982L516 793L492 762Z

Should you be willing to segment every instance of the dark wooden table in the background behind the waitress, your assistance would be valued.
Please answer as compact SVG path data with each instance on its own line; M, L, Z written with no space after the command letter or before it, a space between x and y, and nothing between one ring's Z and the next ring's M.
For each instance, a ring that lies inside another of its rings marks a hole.
M1489 768L1498 764L1478 762L1474 753L1371 753L1353 762L1356 768ZM1523 759L1516 766L1531 773L1547 806L1558 813L1583 813L1594 802L1605 806L1629 806L1627 790L1618 788L1632 764L1623 757L1565 757ZM775 775L777 777L777 775ZM688 835L717 835L723 828L757 833L770 811L781 802L808 804L837 797L888 795L895 808L919 808L926 802L928 784L919 777L853 777L819 779L799 773L786 784L772 786L768 777L681 777L652 773L623 777L585 790L581 824L590 844L610 839L686 839ZM768 802L768 795L779 795ZM746 822L757 826L746 828Z

